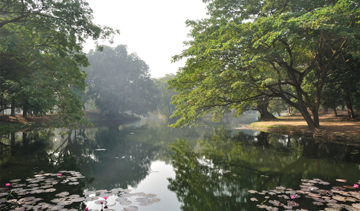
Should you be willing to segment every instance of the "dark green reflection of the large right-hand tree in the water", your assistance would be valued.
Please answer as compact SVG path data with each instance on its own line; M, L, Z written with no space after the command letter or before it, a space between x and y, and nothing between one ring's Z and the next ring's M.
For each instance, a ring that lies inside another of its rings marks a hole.
M348 146L264 132L231 135L223 127L205 134L195 149L183 139L171 150L176 177L168 179L168 188L183 203L182 210L255 210L248 190L299 189L301 179L313 178L356 183L360 173L359 156L349 155ZM318 209L311 202L302 204Z

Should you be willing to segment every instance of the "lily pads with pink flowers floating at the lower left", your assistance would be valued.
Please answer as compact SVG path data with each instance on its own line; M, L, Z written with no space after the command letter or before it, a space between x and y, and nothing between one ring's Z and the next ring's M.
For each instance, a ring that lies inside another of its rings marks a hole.
M80 203L94 202L101 205L101 210L113 211L114 209L109 207L115 206L116 203L128 206L134 201L141 206L147 206L160 201L159 198L155 198L155 194L145 194L143 192L131 194L131 190L122 188L115 188L110 191L84 191L84 196L70 194L67 191L56 192L55 187L65 184L78 185L80 184L78 180L82 178L84 178L83 175L76 171L60 171L59 173L40 172L34 175L34 178L28 178L25 181L21 179L11 180L5 184L6 187L0 188L0 210L77 211L78 209L67 209L65 206L73 203L79 203L80 205ZM44 195L48 197L52 192L55 197L50 200L51 203L44 202L41 197ZM136 197L136 199L128 200L130 197ZM109 203L109 201L114 202ZM128 211L136 211L137 209L136 206L123 208L123 210ZM85 210L91 211L93 209L85 207Z

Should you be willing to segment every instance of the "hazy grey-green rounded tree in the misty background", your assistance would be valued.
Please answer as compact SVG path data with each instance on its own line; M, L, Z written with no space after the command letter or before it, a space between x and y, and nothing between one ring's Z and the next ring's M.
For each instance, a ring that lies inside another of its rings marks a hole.
M104 46L101 52L89 51L87 58L91 64L84 69L87 95L95 99L100 111L147 115L156 109L149 66L136 54L128 54L127 46Z

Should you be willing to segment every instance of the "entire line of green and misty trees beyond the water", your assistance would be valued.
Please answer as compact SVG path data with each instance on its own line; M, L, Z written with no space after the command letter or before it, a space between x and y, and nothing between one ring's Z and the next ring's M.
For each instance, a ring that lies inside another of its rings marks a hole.
M360 109L360 9L356 1L204 0L209 17L187 21L190 41L173 61L176 76L150 77L127 46L98 46L118 30L95 25L86 1L12 1L0 5L0 112L57 112L84 123L85 103L111 116L157 112L174 127L212 114L256 110L275 118L290 107L310 130L319 108ZM169 84L169 85L168 85ZM174 92L174 91L175 92ZM171 100L172 99L172 100ZM175 108L175 106L177 106ZM310 110L310 111L309 111ZM312 114L312 116L311 116Z

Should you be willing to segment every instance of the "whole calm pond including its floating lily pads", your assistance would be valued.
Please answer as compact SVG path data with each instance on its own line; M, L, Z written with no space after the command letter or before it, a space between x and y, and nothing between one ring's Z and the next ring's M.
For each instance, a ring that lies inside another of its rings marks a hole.
M1 210L359 210L359 146L160 118L2 136ZM294 199L292 199L294 198Z

